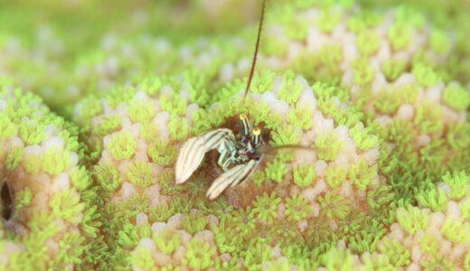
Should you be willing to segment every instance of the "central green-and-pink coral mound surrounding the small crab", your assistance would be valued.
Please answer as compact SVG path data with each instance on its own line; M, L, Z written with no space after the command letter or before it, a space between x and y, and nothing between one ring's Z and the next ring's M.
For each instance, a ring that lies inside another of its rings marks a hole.
M373 199L382 192L379 140L364 130L360 112L334 96L347 91L266 71L255 77L246 102L230 97L243 84L227 85L221 102L208 109L190 102L191 86L171 79L76 107L95 146L93 177L105 197L103 232L112 252L103 257L144 269L259 267L276 258L307 267L340 239L355 251L375 248L391 221ZM329 110L343 112L343 119L335 121ZM205 199L217 174L211 154L186 184L176 185L178 146L243 112L267 132L269 145L306 145L315 152L267 158L250 180L213 202ZM371 238L370 227L381 233ZM356 238L359 232L363 237ZM207 251L198 252L202 248Z

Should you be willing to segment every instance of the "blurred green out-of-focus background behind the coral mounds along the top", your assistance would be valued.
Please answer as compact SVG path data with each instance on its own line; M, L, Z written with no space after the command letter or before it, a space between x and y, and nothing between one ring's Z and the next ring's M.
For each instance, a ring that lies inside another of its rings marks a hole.
M260 2L2 0L0 76L13 78L17 85L39 93L46 104L61 115L71 116L72 105L85 95L99 95L103 89L112 89L129 80L174 71L172 67L179 64L176 56L155 55L153 46L157 46L155 43L160 37L164 37L168 50L178 52L183 45L191 46L200 37L227 43L230 41L224 39L226 36L254 33ZM332 0L270 0L268 13L273 5L293 2L300 5L335 3ZM408 5L426 14L438 27L455 33L458 58L451 61L457 63L470 55L466 42L470 37L470 1L340 2L374 10ZM252 44L242 49L231 46L240 56L250 57ZM124 60L119 58L122 55ZM466 74L454 76L466 81Z

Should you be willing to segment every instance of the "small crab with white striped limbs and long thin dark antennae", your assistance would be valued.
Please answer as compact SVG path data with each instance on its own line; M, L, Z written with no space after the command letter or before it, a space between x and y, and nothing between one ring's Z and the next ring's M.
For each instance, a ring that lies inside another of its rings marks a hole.
M243 100L249 92L249 86L253 78L265 7L266 0L263 0L258 25L258 37ZM247 180L265 154L280 148L308 149L308 147L297 145L276 147L265 145L261 136L261 129L259 127L252 128L247 114L240 114L239 118L240 132L238 135L234 135L228 128L219 128L199 137L190 138L183 144L175 164L176 183L186 182L202 163L204 154L211 150L217 150L220 154L217 164L221 166L223 173L211 183L211 187L206 193L209 200L214 200L229 186L235 187L240 182Z

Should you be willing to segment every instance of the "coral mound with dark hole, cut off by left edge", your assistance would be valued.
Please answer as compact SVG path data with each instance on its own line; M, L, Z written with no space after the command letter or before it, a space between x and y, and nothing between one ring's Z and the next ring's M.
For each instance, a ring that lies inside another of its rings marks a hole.
M4 80L0 145L1 268L70 269L87 262L99 214L80 164L77 128Z

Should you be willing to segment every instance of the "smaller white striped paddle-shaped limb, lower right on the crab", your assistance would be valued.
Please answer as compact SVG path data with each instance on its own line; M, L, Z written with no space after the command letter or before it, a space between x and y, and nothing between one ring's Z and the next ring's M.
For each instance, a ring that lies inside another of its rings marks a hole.
M229 171L222 173L214 182L206 193L209 200L214 200L230 185L235 186L249 177L253 168L258 164L256 160L250 160L248 164L239 164L232 167ZM235 185L233 185L235 183Z

